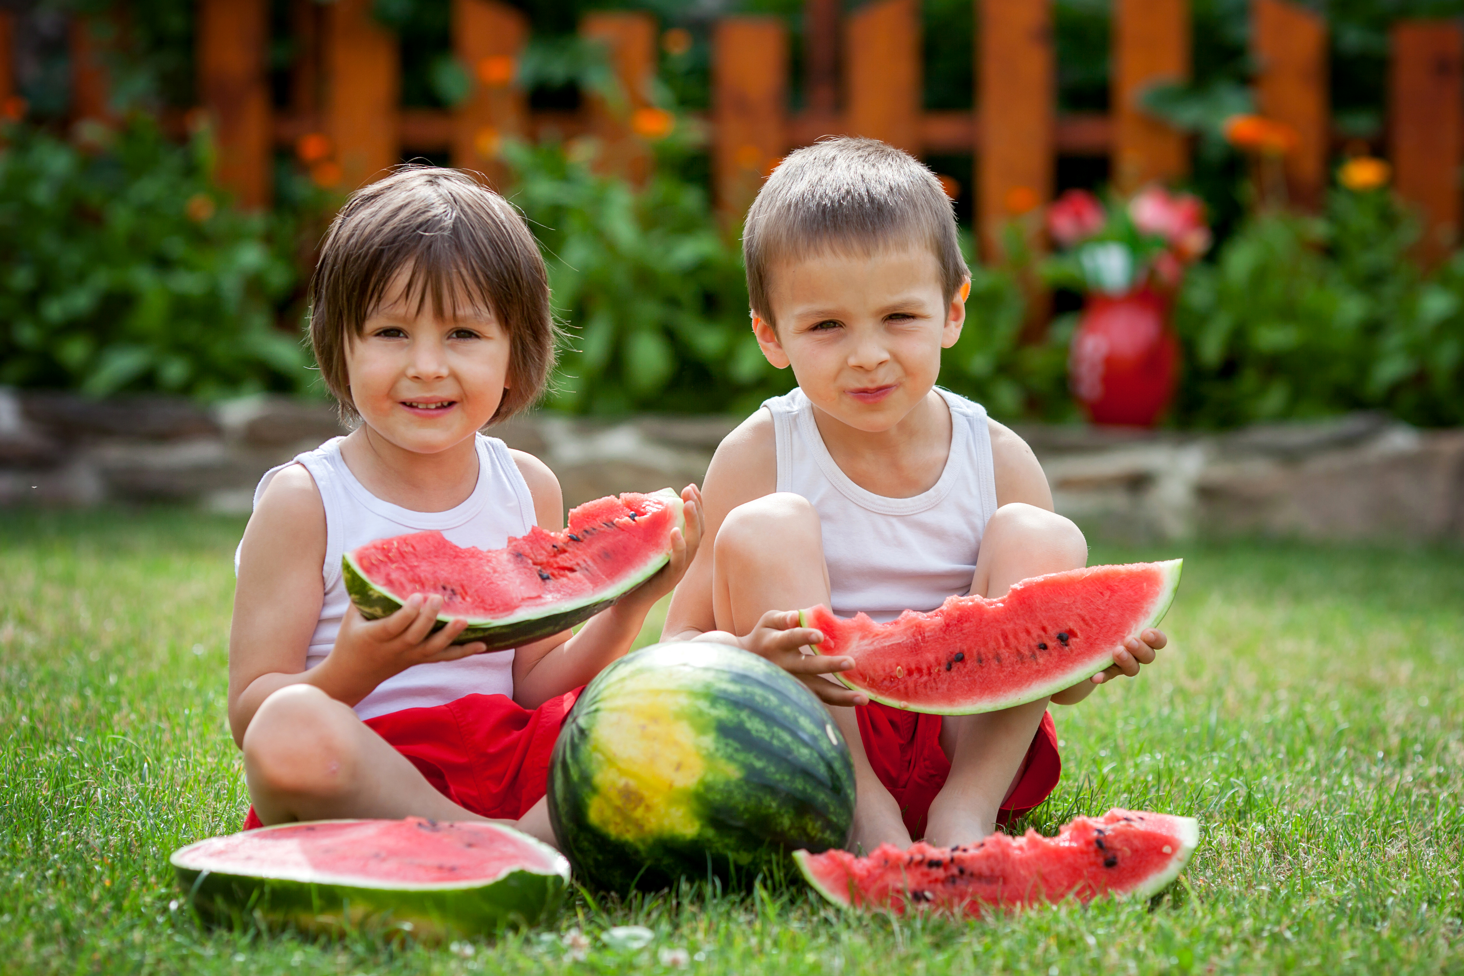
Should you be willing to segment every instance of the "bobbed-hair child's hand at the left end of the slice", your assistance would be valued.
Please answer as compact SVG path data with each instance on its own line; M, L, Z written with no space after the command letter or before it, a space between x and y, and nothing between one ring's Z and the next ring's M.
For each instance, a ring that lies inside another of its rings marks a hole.
M407 597L391 616L367 620L353 604L346 612L340 634L335 635L335 647L331 648L332 670L354 677L356 682L351 683L369 683L362 694L365 697L381 682L416 664L454 661L488 650L482 641L452 644L467 620L449 620L433 634L432 625L441 609L442 597L417 593Z

